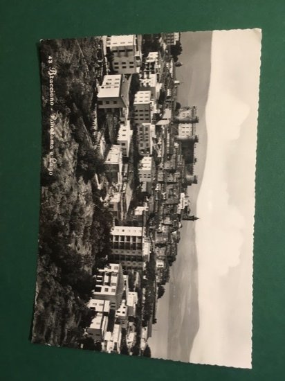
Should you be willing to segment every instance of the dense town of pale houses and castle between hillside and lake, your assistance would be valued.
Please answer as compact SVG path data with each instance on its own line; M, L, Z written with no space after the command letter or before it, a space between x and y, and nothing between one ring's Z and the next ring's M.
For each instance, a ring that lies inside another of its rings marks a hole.
M89 301L96 314L87 333L109 353L120 353L122 330L130 353L138 337L140 351L144 351L157 303L149 324L136 327L139 297L134 290L141 287L139 278L150 256L155 259L156 289L165 284L165 274L177 254L181 221L195 219L187 197L187 186L197 183L195 160L185 160L184 150L187 144L194 147L198 142L199 119L196 107L176 107L179 81L170 46L179 41L180 34L153 38L157 51L145 51L144 35L103 37L109 71L98 87L98 112L117 116L118 134L106 152L107 145L100 145L106 177L98 179L98 188L106 189L102 201L112 211L114 224L109 265L96 275ZM130 105L132 76L138 77L139 89ZM139 201L138 193L143 195ZM131 290L130 272L136 279Z

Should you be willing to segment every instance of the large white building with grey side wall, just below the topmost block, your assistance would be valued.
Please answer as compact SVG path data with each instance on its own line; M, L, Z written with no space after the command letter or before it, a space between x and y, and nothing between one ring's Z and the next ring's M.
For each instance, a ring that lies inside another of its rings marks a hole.
M98 107L107 112L129 107L129 85L130 80L122 74L104 76L98 92Z

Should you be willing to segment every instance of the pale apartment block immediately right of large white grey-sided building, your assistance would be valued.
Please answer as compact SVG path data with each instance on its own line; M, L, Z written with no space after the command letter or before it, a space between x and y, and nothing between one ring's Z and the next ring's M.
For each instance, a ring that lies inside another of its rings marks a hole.
M134 98L134 121L136 124L151 122L151 91L138 91Z

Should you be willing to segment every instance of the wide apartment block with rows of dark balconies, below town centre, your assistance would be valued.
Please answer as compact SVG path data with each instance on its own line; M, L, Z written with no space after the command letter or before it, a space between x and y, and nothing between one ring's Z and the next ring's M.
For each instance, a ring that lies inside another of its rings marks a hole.
M110 260L124 269L143 269L149 260L150 242L143 227L115 226L111 229Z

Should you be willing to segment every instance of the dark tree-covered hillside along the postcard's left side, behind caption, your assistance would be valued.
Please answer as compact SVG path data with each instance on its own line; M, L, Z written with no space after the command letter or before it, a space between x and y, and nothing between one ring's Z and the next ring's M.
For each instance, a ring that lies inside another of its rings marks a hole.
M111 215L100 202L95 181L104 166L92 140L96 85L103 70L94 64L98 55L98 38L42 42L42 209L33 342L74 345L90 321L85 302L93 288L92 274L108 252L104 242L109 242ZM49 56L57 68L52 176L47 170ZM102 126L104 120L98 130Z

